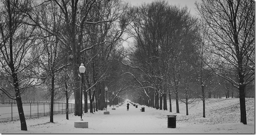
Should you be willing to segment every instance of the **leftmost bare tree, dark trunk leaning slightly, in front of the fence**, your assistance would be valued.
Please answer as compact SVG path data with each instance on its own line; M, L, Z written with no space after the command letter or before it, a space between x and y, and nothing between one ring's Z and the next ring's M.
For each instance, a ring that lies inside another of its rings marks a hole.
M2 86L0 90L9 98L16 100L21 130L27 130L21 94L26 88L39 83L36 77L38 73L33 70L33 63L40 55L31 54L33 47L36 46L35 27L27 25L29 20L21 12L27 10L28 6L27 1L0 2L0 72L4 75L2 79L13 86L13 92L9 93Z

